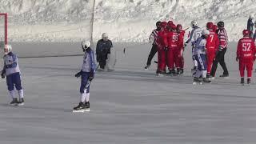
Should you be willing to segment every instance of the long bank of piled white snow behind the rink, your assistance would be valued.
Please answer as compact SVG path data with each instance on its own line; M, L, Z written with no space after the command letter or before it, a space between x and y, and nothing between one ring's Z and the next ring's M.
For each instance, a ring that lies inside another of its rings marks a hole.
M103 32L118 42L146 42L158 20L184 28L197 19L224 21L230 41L237 41L256 0L96 0L94 39ZM90 38L93 0L0 0L9 14L10 41L81 41Z

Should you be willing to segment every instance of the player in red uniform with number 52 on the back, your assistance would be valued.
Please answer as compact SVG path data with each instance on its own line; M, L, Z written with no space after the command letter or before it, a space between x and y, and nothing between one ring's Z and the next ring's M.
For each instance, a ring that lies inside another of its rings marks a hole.
M245 70L247 70L247 84L250 84L252 70L255 60L255 46L253 38L250 38L250 30L242 31L243 38L238 42L237 58L239 60L239 70L241 76L241 84L245 83Z

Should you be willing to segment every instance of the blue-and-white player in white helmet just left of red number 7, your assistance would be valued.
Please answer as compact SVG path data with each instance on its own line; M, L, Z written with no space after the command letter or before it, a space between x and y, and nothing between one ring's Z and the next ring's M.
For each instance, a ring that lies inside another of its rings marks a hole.
M193 85L202 84L202 82L210 83L206 78L207 62L206 62L206 38L210 35L209 30L202 30L202 36L193 42L194 59L198 62L198 69L194 74ZM200 79L202 77L202 80Z

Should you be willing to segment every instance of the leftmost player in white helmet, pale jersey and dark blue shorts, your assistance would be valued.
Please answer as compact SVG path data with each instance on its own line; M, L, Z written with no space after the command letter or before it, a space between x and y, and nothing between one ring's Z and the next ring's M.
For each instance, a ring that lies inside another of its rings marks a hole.
M22 82L21 82L21 71L18 66L18 58L16 54L14 54L12 51L12 47L10 45L6 45L4 48L5 55L3 57L4 60L4 66L2 69L1 77L6 77L6 83L8 90L10 92L10 97L12 98L12 101L10 102L11 106L23 106L24 105L24 95L22 90ZM15 91L14 86L16 87L16 90L18 90L18 98L15 97Z

